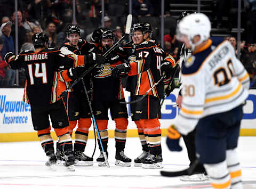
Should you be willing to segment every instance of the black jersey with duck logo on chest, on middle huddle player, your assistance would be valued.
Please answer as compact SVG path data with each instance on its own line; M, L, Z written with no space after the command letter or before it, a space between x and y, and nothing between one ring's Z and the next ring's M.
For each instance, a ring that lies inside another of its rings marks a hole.
M102 47L98 47L98 49L103 54ZM116 101L124 98L121 77L114 78L111 76L115 66L123 62L123 48L119 47L114 54L107 57L105 63L93 69L93 100Z

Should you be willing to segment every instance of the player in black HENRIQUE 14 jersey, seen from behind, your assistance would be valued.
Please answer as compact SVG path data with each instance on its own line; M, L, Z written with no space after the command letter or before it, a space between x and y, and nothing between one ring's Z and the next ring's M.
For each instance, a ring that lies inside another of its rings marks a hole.
M90 61L88 56L85 62L84 56L76 56L73 53L57 48L47 48L48 37L43 33L33 35L35 51L24 51L15 56L13 53L5 55L5 61L12 69L26 70L26 84L23 101L31 106L31 118L33 127L37 131L41 145L49 157L46 166L53 167L56 164L53 139L50 135L50 121L55 133L59 137L61 150L65 154L64 165L74 170L75 158L73 155L72 140L68 133L68 116L62 98L59 94L63 90L63 83L60 81L60 63L83 64L95 63ZM75 73L82 68L66 70L63 77L76 79ZM82 69L83 70L83 69Z

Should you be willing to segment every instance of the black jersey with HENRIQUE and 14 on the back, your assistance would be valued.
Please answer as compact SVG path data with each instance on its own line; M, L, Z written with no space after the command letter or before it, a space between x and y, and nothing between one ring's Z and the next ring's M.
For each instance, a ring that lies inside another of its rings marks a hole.
M26 83L23 101L36 106L56 102L58 95L65 90L58 79L60 63L74 64L71 56L63 55L57 48L46 48L41 52L25 51L12 56L9 64L12 69L26 70Z

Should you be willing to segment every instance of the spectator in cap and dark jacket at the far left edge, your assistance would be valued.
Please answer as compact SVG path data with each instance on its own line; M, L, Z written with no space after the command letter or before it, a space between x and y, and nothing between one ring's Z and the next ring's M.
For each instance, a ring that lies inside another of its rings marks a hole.
M4 57L6 53L13 52L14 53L14 43L13 38L11 36L12 31L12 22L4 22L1 25L1 30L3 32L2 39L4 40L4 46L2 50L1 56ZM15 80L15 70L6 67L5 68L5 77L2 80L1 86L12 86Z

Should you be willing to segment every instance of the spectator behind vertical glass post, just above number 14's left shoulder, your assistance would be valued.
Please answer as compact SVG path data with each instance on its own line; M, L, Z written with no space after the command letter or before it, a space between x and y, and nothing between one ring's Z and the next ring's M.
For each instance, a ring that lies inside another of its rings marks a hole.
M23 19L21 11L17 11L17 19L18 19L18 51L19 51L23 43L26 42L27 30L21 24ZM13 24L12 24L11 36L14 39L14 46L15 46L15 12L13 13L12 23ZM17 53L19 54L19 52Z

